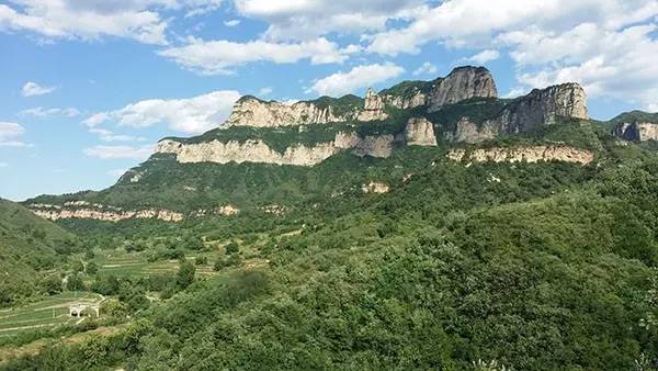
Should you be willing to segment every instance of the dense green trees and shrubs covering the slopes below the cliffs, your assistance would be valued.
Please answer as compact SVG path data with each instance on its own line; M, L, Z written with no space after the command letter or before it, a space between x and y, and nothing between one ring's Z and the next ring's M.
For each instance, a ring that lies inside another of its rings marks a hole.
M504 102L460 104L478 120ZM456 113L442 111L435 119L450 125ZM395 132L413 114L389 113L355 130ZM138 183L77 196L182 211L230 203L242 212L182 223L63 222L84 236L67 266L79 280L66 289L111 296L106 317L87 326L115 330L53 341L2 366L654 370L658 155L569 120L479 146L556 143L592 150L595 162L460 164L445 158L445 143L396 148L387 159L345 153L313 168L155 156ZM390 191L364 193L370 181ZM116 250L177 269L110 274L100 259Z

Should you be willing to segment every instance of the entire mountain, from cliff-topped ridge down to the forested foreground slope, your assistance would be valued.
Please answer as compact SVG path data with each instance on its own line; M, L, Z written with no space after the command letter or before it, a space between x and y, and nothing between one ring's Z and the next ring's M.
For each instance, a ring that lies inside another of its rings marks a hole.
M7 368L658 364L657 151L589 120L576 83L495 87L463 67L365 98L245 97L109 189L27 200L122 261L217 260L185 288L182 268L99 274L121 310L99 323L121 325Z

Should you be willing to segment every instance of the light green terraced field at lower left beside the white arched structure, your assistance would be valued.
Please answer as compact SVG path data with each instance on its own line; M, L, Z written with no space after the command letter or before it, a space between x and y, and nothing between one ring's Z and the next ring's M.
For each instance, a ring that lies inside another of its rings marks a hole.
M72 303L100 303L103 297L93 293L67 292L30 305L0 311L0 336L11 336L34 328L73 324L80 318L69 316Z

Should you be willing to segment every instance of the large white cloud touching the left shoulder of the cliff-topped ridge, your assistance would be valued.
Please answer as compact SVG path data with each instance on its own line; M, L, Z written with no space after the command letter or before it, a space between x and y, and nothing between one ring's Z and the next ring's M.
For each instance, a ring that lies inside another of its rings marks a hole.
M235 90L219 90L189 99L148 99L97 113L83 123L90 127L109 121L133 127L162 123L178 132L198 134L219 126L238 98Z

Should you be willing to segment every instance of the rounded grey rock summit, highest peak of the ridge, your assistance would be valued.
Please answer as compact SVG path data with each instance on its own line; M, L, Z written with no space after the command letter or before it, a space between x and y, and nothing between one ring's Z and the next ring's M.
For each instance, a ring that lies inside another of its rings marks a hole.
M475 97L498 97L498 90L491 74L484 67L458 67L453 69L444 79L436 81L430 92L429 111L438 111L445 104Z

